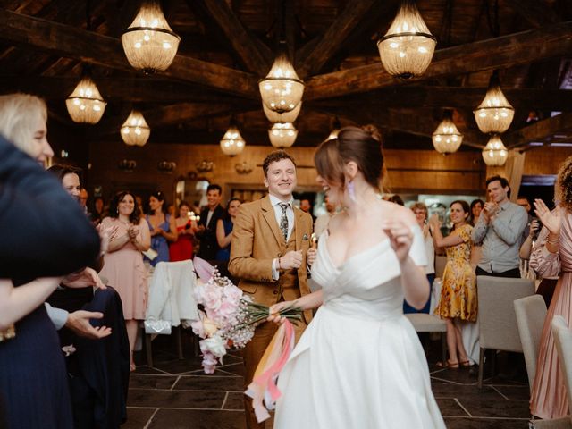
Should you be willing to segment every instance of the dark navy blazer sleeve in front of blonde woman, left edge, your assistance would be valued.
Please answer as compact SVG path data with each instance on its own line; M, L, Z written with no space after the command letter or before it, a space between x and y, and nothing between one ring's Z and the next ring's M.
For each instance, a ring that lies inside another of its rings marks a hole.
M0 278L71 273L92 264L99 235L55 176L0 136Z

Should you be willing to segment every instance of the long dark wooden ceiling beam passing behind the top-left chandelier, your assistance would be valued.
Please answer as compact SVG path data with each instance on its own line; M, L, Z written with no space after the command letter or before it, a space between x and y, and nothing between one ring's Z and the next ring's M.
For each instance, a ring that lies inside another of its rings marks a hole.
M123 71L133 71L123 54L121 41L0 9L0 38ZM225 92L258 99L257 77L228 67L177 55L171 67L160 73L172 79L198 83Z

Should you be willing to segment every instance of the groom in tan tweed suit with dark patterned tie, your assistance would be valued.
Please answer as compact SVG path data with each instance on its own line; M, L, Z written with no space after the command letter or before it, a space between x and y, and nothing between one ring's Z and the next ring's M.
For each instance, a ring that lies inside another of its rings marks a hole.
M240 289L255 302L271 306L310 293L306 253L312 217L292 206L296 164L290 155L282 150L272 152L266 156L263 170L269 195L240 206L232 229L229 271L240 277ZM305 320L295 325L297 340L311 318L311 311L307 311ZM252 382L274 332L275 324L260 324L244 349L246 386ZM265 427L257 423L252 401L246 396L245 414L248 429Z

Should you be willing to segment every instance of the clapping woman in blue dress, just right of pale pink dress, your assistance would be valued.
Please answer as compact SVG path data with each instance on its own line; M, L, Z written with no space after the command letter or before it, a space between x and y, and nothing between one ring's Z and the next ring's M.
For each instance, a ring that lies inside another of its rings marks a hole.
M175 220L171 214L165 213L164 206L163 192L158 190L151 194L149 197L151 211L145 218L151 231L151 248L157 252L157 256L150 260L152 266L159 262L169 262L169 243L167 241L176 241L178 236Z

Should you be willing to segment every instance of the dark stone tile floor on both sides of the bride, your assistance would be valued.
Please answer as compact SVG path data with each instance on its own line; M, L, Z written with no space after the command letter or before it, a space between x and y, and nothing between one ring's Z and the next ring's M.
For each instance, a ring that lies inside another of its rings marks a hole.
M128 421L122 429L242 429L243 370L240 352L224 358L216 373L206 375L193 357L189 333L183 333L185 358L174 341L153 341L154 366L142 362L130 377ZM431 350L439 350L433 342ZM142 355L141 355L142 356ZM136 356L141 357L141 356ZM439 368L430 353L433 392L450 429L526 429L528 384L499 376L485 379L483 389L469 370ZM267 428L272 427L268 422Z

